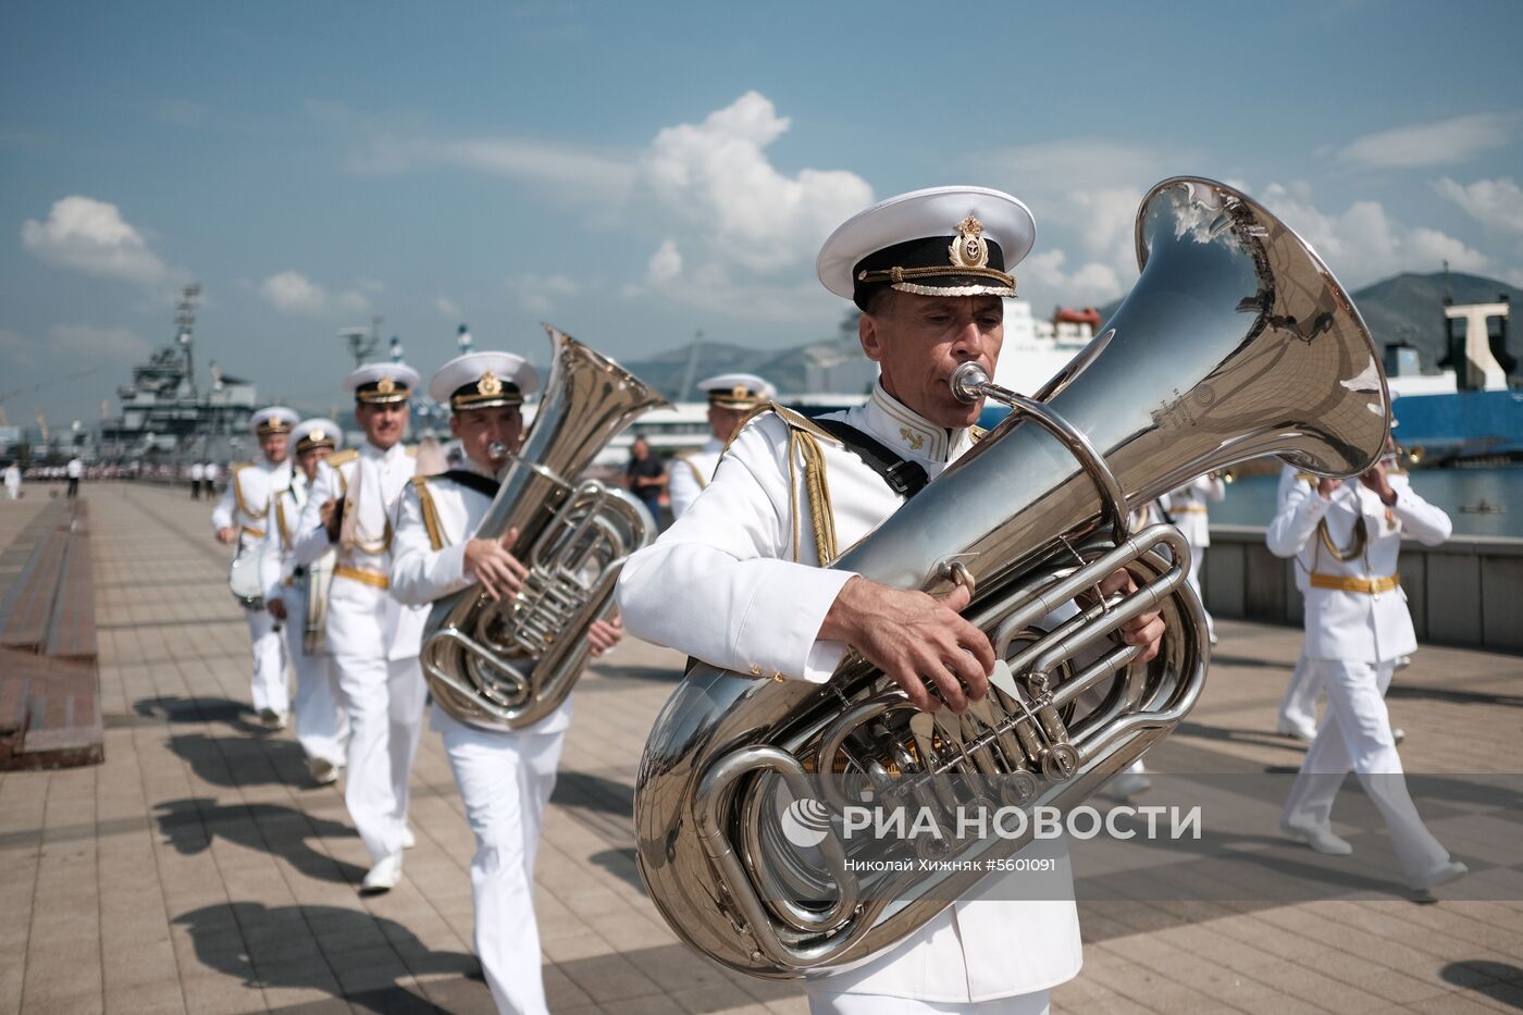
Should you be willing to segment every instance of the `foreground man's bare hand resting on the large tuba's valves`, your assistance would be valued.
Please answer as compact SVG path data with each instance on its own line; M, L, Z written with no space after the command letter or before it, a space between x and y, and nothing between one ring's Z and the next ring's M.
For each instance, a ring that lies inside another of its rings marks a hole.
M819 637L845 642L873 663L921 712L941 703L926 690L926 680L956 713L969 700L988 693L995 649L984 632L963 619L969 591L963 585L946 599L923 591L902 591L854 576L841 587L819 625Z

